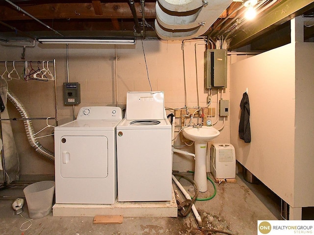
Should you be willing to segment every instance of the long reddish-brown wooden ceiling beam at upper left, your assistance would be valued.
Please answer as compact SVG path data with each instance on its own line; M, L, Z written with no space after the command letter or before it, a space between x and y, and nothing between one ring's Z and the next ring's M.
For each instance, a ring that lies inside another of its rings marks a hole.
M96 3L98 4L98 3ZM145 3L145 18L156 17L155 2ZM21 7L37 19L133 19L127 2L101 3L102 15L95 15L92 3L47 3ZM140 3L135 3L136 13L140 16ZM99 9L100 10L100 9ZM14 7L0 7L0 21L29 20Z

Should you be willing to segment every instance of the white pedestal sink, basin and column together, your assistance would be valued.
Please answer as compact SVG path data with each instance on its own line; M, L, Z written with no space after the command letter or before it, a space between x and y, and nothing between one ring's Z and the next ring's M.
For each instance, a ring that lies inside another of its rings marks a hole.
M183 129L183 136L186 139L194 141L195 148L195 169L194 181L198 185L200 192L207 191L206 175L206 153L207 142L212 141L220 132L211 126L186 127Z

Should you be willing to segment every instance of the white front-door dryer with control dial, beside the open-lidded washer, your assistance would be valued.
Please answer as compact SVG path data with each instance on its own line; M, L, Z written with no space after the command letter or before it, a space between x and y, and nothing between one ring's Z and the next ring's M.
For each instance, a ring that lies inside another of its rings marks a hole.
M55 202L113 204L117 197L116 126L119 107L83 107L54 128Z

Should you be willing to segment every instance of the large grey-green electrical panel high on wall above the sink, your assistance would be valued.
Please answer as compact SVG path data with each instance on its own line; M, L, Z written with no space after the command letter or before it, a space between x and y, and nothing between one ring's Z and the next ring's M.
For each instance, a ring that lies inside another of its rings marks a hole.
M227 87L227 50L208 49L204 52L205 89Z

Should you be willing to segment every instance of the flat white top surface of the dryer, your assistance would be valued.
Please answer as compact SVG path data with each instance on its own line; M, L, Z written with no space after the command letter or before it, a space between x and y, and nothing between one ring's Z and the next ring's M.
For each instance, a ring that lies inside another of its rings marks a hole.
M114 131L120 121L77 119L56 126L54 131Z

